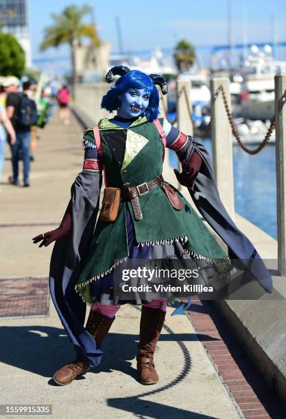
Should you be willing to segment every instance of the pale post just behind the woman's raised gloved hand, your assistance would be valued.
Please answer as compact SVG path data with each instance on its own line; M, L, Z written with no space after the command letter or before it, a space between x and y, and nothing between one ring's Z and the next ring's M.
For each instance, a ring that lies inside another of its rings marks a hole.
M177 120L178 129L189 136L193 135L193 125L191 123L191 116L186 103L184 89L187 92L189 108L191 110L191 81L177 80Z

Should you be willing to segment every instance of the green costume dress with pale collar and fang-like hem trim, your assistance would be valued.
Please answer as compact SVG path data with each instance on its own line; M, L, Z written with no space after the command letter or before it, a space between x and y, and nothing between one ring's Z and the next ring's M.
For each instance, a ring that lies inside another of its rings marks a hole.
M153 122L145 116L138 118L128 129L115 125L107 118L99 121L102 141L102 162L108 186L121 188L123 185L137 186L154 179L163 172L163 142ZM121 168L118 166L107 138L121 130L126 134L126 148ZM84 132L84 144L96 147L93 129ZM174 188L174 186L173 186ZM176 190L176 188L174 188ZM120 201L115 222L97 220L93 240L84 259L75 290L82 299L92 303L89 285L92 281L102 281L112 270L128 259L128 237L126 229L126 205L128 205L134 225L136 242L139 246L162 246L179 242L184 252L193 258L213 260L217 264L228 260L228 256L206 228L204 222L184 199L180 211L169 203L165 192L157 186L139 197L142 220L134 218L130 202Z

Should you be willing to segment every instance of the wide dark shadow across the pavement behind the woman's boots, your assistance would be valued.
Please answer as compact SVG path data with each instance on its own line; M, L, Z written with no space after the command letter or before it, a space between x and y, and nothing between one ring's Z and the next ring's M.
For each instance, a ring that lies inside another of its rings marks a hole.
M206 338L213 340L213 338ZM128 362L136 356L138 335L109 333L103 344L102 363L91 372L121 370L132 377L136 371ZM163 334L158 342L197 340L192 333ZM75 357L73 346L64 329L43 326L2 326L0 329L0 361L43 377L53 373ZM111 355L111 356L110 356Z

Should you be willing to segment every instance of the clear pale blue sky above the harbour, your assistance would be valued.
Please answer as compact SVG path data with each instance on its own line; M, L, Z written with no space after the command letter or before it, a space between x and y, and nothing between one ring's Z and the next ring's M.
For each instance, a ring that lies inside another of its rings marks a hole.
M29 31L34 59L68 55L67 47L40 53L43 29L51 25L51 13L60 13L71 4L91 5L99 38L119 50L115 16L119 16L125 51L172 48L185 38L197 47L228 43L228 3L231 3L233 42L286 41L286 1L272 0L28 0ZM91 17L86 17L86 22ZM285 59L286 57L281 57Z

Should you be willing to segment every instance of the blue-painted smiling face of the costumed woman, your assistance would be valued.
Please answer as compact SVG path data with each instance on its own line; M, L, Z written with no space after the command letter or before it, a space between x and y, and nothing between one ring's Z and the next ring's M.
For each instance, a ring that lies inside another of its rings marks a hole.
M149 105L150 94L147 89L129 88L119 96L120 107L117 115L120 118L141 116Z

